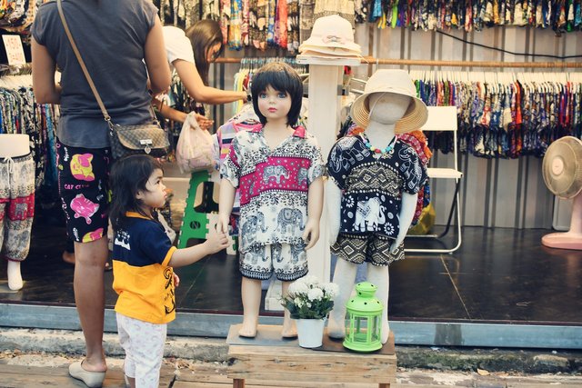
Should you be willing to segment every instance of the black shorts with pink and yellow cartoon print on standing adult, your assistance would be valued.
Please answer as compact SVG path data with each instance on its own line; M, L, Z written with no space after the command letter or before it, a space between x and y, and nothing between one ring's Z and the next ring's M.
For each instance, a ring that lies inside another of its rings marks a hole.
M58 190L66 233L77 243L107 235L109 148L81 148L56 143Z

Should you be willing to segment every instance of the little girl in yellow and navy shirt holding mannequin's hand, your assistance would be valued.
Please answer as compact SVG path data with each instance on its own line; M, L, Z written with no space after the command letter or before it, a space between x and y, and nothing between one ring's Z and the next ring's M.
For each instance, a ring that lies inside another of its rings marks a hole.
M226 234L215 232L204 244L172 246L153 214L166 201L162 177L159 162L139 154L117 161L110 178L113 288L119 295L115 312L125 349L125 376L132 387L158 386L166 323L176 317L177 277L172 268L196 263L228 245Z

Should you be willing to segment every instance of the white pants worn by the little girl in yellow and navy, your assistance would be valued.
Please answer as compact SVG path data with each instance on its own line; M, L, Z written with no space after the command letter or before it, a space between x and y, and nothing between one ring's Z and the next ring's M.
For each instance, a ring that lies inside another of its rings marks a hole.
M148 323L117 313L117 332L125 350L125 375L135 378L135 388L157 388L167 324Z

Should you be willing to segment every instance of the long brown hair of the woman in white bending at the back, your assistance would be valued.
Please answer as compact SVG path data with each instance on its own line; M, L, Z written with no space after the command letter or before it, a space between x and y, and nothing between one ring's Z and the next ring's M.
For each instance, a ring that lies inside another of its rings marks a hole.
M222 31L220 25L215 20L204 19L196 22L186 30L186 36L190 39L192 49L194 50L194 60L196 61L196 70L204 85L208 85L208 51L217 43L220 44L220 50L216 56L223 52Z

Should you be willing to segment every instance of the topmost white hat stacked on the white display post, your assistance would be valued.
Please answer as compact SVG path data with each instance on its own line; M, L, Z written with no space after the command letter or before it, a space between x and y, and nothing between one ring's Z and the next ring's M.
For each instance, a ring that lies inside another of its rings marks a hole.
M322 49L339 48L346 54L361 55L362 48L354 42L352 25L339 15L323 16L316 19L311 36L299 46L299 52L305 50L322 52ZM329 52L324 52L329 54ZM337 54L336 54L337 55Z

